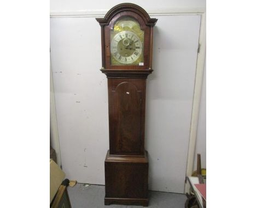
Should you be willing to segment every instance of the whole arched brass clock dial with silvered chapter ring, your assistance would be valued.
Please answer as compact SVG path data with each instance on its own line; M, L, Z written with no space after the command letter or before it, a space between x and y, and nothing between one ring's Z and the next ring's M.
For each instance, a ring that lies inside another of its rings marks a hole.
M118 20L110 35L111 64L143 65L143 41L144 31L136 20Z

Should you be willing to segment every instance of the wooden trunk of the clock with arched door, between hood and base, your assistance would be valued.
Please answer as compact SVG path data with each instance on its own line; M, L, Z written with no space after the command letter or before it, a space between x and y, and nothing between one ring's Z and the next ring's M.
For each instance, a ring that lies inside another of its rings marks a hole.
M144 154L144 79L108 79L110 155Z

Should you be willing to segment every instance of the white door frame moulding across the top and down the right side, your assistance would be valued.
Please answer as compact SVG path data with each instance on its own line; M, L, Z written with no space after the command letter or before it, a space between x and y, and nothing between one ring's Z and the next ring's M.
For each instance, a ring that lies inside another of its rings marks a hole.
M51 18L61 17L104 17L107 10L79 10L79 11L51 11ZM174 9L154 9L148 10L149 16L172 16L172 15L201 15L201 25L199 34L199 52L197 54L195 86L193 96L193 107L191 113L190 136L188 146L186 176L193 173L194 155L197 124L200 109L200 98L202 88L203 69L206 54L206 9L205 8L174 8ZM56 121L57 122L57 121ZM189 192L189 184L185 182L184 193Z

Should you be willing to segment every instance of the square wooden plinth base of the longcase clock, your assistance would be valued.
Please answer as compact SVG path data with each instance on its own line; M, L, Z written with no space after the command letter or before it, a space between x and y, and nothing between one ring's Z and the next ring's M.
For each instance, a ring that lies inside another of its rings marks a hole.
M148 154L109 156L105 160L105 205L148 206Z

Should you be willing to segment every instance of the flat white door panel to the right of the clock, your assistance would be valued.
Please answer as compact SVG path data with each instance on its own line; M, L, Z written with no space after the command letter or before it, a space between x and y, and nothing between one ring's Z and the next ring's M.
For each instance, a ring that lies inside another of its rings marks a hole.
M158 16L147 81L149 188L183 193L200 16ZM177 160L178 158L178 160Z

